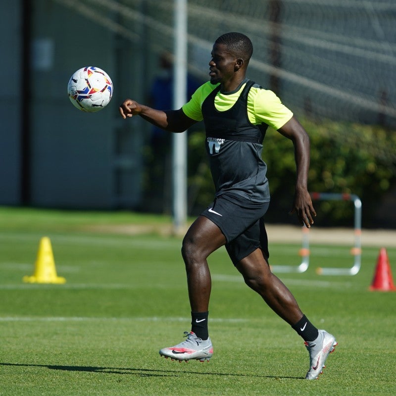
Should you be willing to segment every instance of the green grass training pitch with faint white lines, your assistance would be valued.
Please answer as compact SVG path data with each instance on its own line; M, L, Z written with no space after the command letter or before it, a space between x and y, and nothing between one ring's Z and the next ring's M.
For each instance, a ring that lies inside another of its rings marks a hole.
M356 276L345 246L311 246L304 274L279 274L303 312L337 337L318 381L305 381L302 340L250 291L225 249L209 257L209 363L161 358L190 330L181 238L106 232L164 225L128 212L0 208L0 395L396 395L396 293L369 292L378 247ZM96 231L96 228L97 230ZM64 285L22 282L40 239ZM298 264L297 245L271 244L272 263ZM396 268L396 248L388 248Z

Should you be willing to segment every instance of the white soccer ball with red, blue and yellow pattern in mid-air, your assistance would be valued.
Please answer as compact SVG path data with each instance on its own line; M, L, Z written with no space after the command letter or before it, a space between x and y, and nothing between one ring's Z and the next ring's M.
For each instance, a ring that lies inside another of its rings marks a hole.
M67 95L78 109L99 111L109 103L113 95L113 83L99 67L83 67L70 77Z

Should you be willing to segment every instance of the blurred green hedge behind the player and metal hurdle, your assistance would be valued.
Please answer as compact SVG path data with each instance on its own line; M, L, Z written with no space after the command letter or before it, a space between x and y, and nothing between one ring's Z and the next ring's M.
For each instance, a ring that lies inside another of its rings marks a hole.
M375 212L381 198L396 184L396 132L373 125L300 119L311 140L309 190L351 193L362 200L363 226L376 226ZM204 132L189 136L190 212L197 214L210 203L213 183L204 150ZM295 187L294 149L290 140L268 129L263 149L268 165L270 222L296 222L288 212ZM353 204L349 201L315 201L316 223L351 226Z

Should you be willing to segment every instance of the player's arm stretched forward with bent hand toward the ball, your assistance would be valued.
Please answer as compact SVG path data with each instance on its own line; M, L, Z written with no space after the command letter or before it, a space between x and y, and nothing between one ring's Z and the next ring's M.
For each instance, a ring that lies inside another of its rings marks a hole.
M182 109L156 110L132 99L124 100L119 107L119 111L124 119L133 115L140 115L151 124L169 132L183 132L197 122L187 117Z

